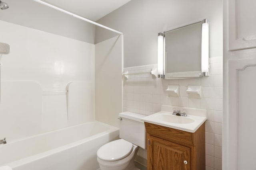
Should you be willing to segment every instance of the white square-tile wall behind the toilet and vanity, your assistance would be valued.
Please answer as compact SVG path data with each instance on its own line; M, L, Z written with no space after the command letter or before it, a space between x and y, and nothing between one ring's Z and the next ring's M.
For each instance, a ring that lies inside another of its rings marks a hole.
M207 109L206 121L206 170L222 169L222 57L210 58L210 76L191 79L164 80L149 74L156 65L124 68L124 72L146 72L124 78L123 111L150 115L160 111L160 106L173 105ZM168 85L179 85L179 97L168 96ZM202 86L202 98L188 98L188 85ZM146 156L139 150L140 156ZM146 157L144 157L146 158Z

